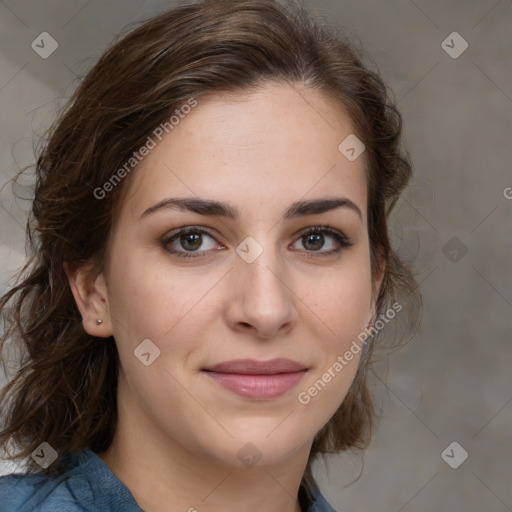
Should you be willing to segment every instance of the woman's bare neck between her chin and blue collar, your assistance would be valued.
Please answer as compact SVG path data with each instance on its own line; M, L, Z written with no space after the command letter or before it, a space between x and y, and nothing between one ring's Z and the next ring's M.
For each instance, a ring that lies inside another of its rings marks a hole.
M114 441L98 455L145 512L301 512L297 496L310 444L279 464L234 467L191 453L140 416L134 425L127 413L119 407Z

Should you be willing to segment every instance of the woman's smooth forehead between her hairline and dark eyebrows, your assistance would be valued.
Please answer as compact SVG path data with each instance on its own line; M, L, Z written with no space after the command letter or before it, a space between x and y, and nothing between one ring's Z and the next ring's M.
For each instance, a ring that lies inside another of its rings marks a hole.
M144 157L125 202L140 214L166 197L198 196L261 216L299 198L343 195L364 213L364 154L349 161L339 150L353 133L339 102L298 85L200 97Z

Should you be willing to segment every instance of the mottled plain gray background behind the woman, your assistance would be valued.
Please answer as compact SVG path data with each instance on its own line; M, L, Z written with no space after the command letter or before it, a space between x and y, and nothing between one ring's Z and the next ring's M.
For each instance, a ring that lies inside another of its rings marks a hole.
M33 160L33 142L113 36L173 4L0 2L1 184ZM372 377L381 418L370 447L331 457L328 472L318 464L321 488L344 512L512 510L512 2L307 5L363 42L399 101L415 178L393 240L415 256L424 298L420 332ZM31 48L43 31L59 44L48 59ZM456 59L441 46L454 31L469 45ZM0 291L24 260L26 209L2 190ZM441 457L453 441L469 454L457 469Z

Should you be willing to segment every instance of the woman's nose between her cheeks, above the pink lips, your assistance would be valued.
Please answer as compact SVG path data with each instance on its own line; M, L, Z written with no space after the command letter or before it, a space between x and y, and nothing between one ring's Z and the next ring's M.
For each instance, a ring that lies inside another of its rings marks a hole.
M252 263L237 257L230 272L225 309L230 328L252 332L261 339L292 329L298 318L298 297L290 281L285 263L268 247Z

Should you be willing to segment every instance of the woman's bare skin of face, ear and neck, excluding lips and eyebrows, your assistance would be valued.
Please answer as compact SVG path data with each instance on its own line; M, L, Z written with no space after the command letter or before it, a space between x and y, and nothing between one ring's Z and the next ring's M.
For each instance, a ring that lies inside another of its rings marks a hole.
M119 424L99 455L146 512L300 512L314 436L343 401L359 356L307 405L298 394L364 330L380 286L370 273L364 155L351 162L338 150L351 133L336 103L299 85L199 98L132 171L104 271L67 267L85 330L113 335L120 356ZM167 198L222 201L237 216L170 207L142 215ZM284 218L292 203L320 198L355 208ZM303 236L325 225L351 245L326 232ZM207 232L194 250L187 237L169 241L187 226ZM249 236L263 249L251 263L236 252ZM134 355L145 339L160 350L148 366ZM266 400L202 371L276 357L308 370ZM240 456L247 443L260 456L251 467Z

